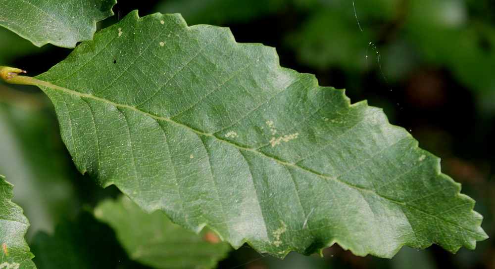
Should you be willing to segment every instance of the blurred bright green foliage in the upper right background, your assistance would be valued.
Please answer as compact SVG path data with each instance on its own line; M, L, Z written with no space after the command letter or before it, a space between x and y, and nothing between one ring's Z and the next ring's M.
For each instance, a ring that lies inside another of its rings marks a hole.
M473 0L170 0L156 10L182 13L189 24L294 20L280 29L281 42L299 64L360 74L381 68L391 83L423 65L442 67L474 91L482 113L495 113L484 101L495 92L494 9Z

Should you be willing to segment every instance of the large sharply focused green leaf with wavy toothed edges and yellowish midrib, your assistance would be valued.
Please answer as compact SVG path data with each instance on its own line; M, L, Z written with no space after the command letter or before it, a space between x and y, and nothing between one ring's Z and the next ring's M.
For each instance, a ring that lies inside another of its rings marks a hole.
M226 28L132 12L27 80L81 172L236 248L392 257L487 238L474 201L381 109Z

